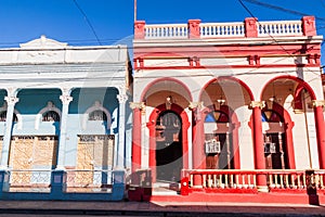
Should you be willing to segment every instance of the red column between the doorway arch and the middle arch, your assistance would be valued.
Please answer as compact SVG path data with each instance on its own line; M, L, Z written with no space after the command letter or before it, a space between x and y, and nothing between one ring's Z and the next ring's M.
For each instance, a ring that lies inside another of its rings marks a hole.
M193 168L205 169L206 168L206 155L204 150L205 143L205 130L204 119L202 119L202 111L198 107L193 108L194 113L194 126L193 126ZM202 186L202 176L194 177L194 186Z

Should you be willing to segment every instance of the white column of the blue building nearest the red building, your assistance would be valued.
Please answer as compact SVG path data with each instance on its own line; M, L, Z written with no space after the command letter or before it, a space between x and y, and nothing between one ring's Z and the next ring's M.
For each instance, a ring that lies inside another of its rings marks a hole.
M126 145L126 102L128 95L125 93L117 95L119 102L119 125L118 125L118 146L117 146L117 168L125 168L125 145Z

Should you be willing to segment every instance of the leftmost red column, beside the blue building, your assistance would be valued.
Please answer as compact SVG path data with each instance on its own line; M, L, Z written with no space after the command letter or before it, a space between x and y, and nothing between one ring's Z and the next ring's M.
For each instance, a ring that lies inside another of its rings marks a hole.
M133 105L132 173L141 168L141 108Z

